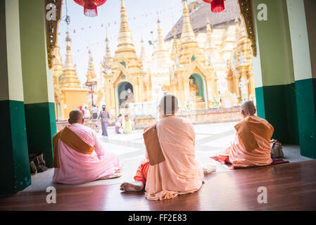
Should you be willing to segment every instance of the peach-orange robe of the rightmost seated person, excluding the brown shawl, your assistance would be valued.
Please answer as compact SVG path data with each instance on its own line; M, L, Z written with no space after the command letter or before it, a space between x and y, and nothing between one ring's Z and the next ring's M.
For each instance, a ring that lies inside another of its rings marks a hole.
M272 125L269 124L266 120L260 120L267 127L273 129ZM242 143L239 136L235 134L232 146L229 146L221 153L219 153L219 156L228 156L229 162L231 162L232 165L238 167L270 165L272 163L270 142L266 141L257 134L253 133L253 135L255 136L255 140L258 143L258 148L255 148L251 151L246 150L244 143Z

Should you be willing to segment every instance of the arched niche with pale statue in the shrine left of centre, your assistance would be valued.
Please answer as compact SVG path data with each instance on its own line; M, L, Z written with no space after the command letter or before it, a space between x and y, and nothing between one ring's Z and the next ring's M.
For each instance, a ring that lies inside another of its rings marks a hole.
M116 110L129 108L129 103L134 103L134 89L129 82L120 82L116 86Z

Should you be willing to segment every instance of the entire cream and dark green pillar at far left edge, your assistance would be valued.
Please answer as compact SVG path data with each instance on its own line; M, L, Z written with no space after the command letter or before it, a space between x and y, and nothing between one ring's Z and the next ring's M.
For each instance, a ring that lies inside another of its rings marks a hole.
M18 0L0 1L0 194L31 184L20 60Z

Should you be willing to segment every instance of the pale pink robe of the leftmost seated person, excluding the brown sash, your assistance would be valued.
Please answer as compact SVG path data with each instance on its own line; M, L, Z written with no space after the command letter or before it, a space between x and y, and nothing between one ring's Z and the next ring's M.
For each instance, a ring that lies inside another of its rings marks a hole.
M82 124L68 125L68 128L89 146L94 146L95 150L91 155L78 153L59 140L58 151L61 166L54 169L54 183L83 184L113 175L121 169L118 156L106 152L93 129Z

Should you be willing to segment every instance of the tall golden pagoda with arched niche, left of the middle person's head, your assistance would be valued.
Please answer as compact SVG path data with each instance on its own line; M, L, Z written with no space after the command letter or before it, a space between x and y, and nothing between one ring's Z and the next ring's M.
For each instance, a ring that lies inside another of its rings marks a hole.
M110 113L117 114L120 105L128 95L129 102L144 102L148 90L145 83L145 72L141 69L141 61L137 58L127 23L124 0L121 0L120 31L118 33L118 49L115 51L111 71L105 75L106 105ZM122 112L124 113L124 112Z

